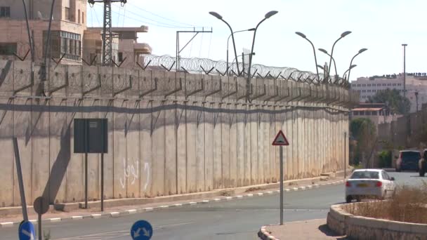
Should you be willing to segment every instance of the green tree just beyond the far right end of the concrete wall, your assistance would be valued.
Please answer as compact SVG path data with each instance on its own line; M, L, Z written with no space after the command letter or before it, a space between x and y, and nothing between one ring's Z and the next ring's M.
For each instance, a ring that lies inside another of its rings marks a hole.
M353 147L353 164L366 159L372 151L375 143L376 130L371 119L353 119L350 123L350 132L357 144Z

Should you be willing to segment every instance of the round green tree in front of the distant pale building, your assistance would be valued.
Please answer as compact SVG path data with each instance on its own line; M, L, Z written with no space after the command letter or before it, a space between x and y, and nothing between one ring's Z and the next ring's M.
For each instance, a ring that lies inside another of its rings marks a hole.
M369 103L387 103L388 107L399 114L409 112L411 102L409 99L400 95L397 89L386 89L384 91L376 92L372 97L367 100Z

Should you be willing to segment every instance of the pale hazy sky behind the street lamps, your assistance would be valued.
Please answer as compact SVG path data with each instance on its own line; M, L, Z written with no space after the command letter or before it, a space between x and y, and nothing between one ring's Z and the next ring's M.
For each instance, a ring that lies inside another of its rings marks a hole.
M334 41L342 32L352 33L337 42L334 48L340 76L360 50L351 70L350 80L360 76L398 74L403 72L403 47L406 48L406 71L427 72L427 11L426 0L128 0L121 6L112 4L113 27L149 27L138 34L138 41L150 44L153 55L176 53L176 31L211 30L198 34L181 52L182 58L225 60L230 29L224 22L209 15L215 11L223 16L233 31L256 27L265 13L278 11L265 20L256 32L253 63L273 67L294 67L315 72L313 48L295 34L303 32L316 48L317 64L329 63L329 57L317 50L331 53ZM103 6L88 6L88 27L103 22ZM180 34L181 47L192 33ZM235 34L237 55L251 48L253 32ZM230 62L232 41L230 39ZM333 69L334 71L334 69Z

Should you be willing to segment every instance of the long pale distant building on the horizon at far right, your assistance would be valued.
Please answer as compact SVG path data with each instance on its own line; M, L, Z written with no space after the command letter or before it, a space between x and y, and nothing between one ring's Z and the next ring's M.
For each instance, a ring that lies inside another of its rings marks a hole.
M386 76L360 77L351 82L351 88L360 93L360 102L366 102L379 91L396 89L403 95L403 74ZM419 109L427 103L427 74L415 73L406 75L406 97L411 102L410 112L416 112L416 98ZM418 96L417 96L418 95Z

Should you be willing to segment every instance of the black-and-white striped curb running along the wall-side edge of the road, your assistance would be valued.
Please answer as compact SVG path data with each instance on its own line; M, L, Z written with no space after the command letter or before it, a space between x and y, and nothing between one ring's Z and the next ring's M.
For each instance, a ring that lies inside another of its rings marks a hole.
M284 192L306 191L308 189L314 189L314 188L327 186L327 185L337 185L337 184L340 184L342 182L343 182L343 180L338 180L338 181L334 181L334 182L325 182L325 183L320 183L320 184L315 184L315 185L307 185L307 186L292 187L292 188L289 187L289 188L285 188L283 190L284 190ZM194 205L199 205L199 204L209 204L211 202L218 202L218 201L232 201L232 200L235 201L235 200L239 200L239 199L249 199L249 198L254 198L256 196L268 196L268 195L278 194L278 193L280 193L280 190L275 190L275 191L266 190L265 192L258 192L256 194L250 194L249 193L249 194L240 194L240 195L236 195L236 196L222 196L222 197L217 197L215 199L212 198L212 199L204 199L201 201L186 201L186 202L182 202L179 204L162 205L162 206L155 206L155 207L149 207L149 208L138 208L138 209L125 210L125 211L112 211L112 212L108 212L108 213L91 213L88 215L74 215L74 216L64 217L64 218L46 218L46 219L41 220L41 222L42 223L48 223L48 222L76 221L76 220L89 219L89 218L91 218L91 219L119 218L119 217L124 216L124 215L131 215L131 214L136 214L136 213L146 213L146 212L157 211L157 210L166 209L166 208L178 208L181 206L194 206ZM37 225L37 220L29 220L29 221L33 222L34 225ZM21 221L19 221L19 222L0 222L0 228L18 226L18 225L20 225L20 222ZM265 238L265 239L271 239L271 238Z

